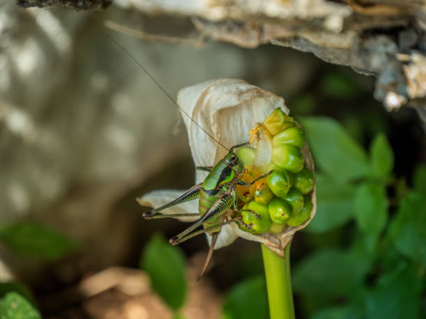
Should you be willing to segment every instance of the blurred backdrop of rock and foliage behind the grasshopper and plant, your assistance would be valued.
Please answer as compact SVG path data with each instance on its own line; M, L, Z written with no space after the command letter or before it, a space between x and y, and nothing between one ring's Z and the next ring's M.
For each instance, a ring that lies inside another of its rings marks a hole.
M195 40L139 40L105 21ZM75 13L0 1L0 309L15 291L43 318L267 318L257 243L216 251L197 282L205 238L173 248L165 238L186 224L141 218L135 198L191 187L194 163L177 107L130 54L172 97L239 78L283 96L306 123L318 211L292 243L297 318L426 316L426 148L416 111L388 113L372 98L374 78L312 54L193 32L187 19L114 4ZM337 131L317 136L324 119ZM331 172L324 163L330 145L342 159L345 146L360 149L384 172L340 179L345 165ZM379 225L363 219L370 211L383 212Z

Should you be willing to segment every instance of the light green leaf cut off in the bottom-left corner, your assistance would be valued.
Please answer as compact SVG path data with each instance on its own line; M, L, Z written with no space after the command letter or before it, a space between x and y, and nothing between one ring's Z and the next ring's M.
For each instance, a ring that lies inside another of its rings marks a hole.
M11 292L0 300L1 319L40 319L40 313L18 293Z

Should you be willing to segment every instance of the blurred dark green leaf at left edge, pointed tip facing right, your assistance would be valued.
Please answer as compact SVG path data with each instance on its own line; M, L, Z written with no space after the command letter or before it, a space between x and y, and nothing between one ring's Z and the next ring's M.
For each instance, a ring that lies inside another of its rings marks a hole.
M44 259L58 259L77 249L70 239L34 222L1 226L0 240L18 254Z

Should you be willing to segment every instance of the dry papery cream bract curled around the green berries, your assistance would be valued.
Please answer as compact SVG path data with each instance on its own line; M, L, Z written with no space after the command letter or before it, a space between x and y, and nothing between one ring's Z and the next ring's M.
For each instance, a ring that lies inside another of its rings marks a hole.
M178 93L178 104L196 123L214 136L226 147L232 147L248 141L249 131L258 122L263 122L275 108L281 108L287 115L290 110L285 106L284 99L274 93L262 90L240 79L214 79L197 85L183 88ZM216 164L228 150L221 147L204 133L187 115L182 114L189 136L189 145L194 163L197 166ZM315 172L313 158L308 144L301 149L306 167ZM206 172L196 172L196 183L207 176ZM143 206L158 207L182 195L181 190L155 190L138 199ZM230 245L238 237L254 240L265 244L279 256L284 256L285 246L290 243L294 233L306 227L312 220L317 209L315 183L311 196L313 209L310 218L298 227L286 226L280 234L251 234L239 229L235 223L222 227L215 249ZM186 202L168 208L162 213L196 213L198 200ZM193 221L197 218L182 218ZM207 235L210 242L210 236Z

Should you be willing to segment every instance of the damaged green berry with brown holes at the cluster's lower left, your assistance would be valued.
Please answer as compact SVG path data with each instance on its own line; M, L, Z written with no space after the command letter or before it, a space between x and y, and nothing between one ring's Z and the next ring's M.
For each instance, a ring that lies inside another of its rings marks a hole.
M248 211L244 211L244 209ZM253 214L253 211L255 214ZM253 234L262 234L271 228L271 218L269 218L268 206L256 203L255 201L248 202L242 209L242 223L240 228L249 231Z

